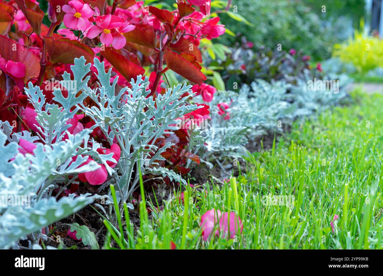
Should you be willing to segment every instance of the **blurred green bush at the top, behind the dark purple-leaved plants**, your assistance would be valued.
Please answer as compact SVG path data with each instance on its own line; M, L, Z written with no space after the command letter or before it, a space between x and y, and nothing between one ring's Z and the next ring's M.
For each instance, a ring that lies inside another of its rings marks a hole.
M223 44L239 43L246 36L256 48L276 48L280 43L283 50L299 49L315 60L329 58L332 45L351 36L365 16L364 0L235 0L232 5L252 25L219 14L236 33L236 37L224 36ZM326 12L322 12L323 5Z

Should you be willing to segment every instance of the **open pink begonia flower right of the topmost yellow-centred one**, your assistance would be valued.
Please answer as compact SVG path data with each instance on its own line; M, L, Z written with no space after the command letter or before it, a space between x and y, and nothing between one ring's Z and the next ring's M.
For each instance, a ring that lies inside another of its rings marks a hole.
M92 39L100 35L101 43L109 46L113 43L113 36L111 31L122 27L123 20L116 15L101 15L96 18L96 25L92 26L87 33L87 37Z

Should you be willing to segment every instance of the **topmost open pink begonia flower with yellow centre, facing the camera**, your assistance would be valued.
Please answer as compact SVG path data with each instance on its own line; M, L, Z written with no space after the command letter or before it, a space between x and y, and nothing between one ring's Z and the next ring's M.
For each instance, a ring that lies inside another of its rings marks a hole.
M93 16L93 10L82 0L69 1L62 10L66 13L63 21L67 28L85 31L91 25L88 18Z

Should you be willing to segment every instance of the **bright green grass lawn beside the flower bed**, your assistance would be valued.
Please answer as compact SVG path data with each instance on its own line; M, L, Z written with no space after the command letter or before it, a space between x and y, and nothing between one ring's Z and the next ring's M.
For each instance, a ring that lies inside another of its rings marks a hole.
M170 248L170 242L192 249L383 248L383 96L353 98L349 107L296 122L275 149L246 158L246 172L236 181L187 187L185 205L175 192L162 211L149 201L152 219L142 202L137 231L124 220L121 230L105 221L105 248L110 240L122 248ZM266 205L267 195L294 196L294 206ZM201 215L214 208L238 214L241 235L203 241Z

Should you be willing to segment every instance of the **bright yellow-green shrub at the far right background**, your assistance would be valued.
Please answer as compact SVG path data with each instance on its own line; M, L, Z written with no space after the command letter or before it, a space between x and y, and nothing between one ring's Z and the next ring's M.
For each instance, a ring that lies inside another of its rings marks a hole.
M383 67L383 40L355 31L354 39L334 45L333 55L344 62L351 62L358 72L364 74L376 67Z

